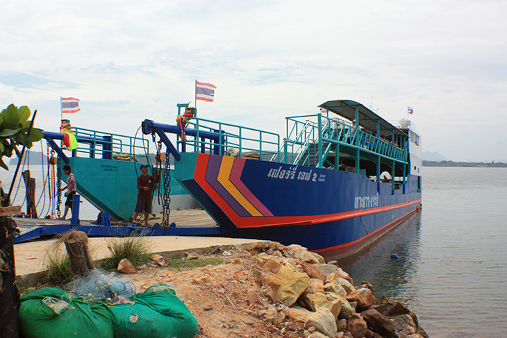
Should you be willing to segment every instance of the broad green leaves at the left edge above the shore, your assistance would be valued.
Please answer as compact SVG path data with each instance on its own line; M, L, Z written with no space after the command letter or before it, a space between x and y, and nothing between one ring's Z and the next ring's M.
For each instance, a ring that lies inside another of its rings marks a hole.
M33 142L42 139L42 131L38 128L32 128L30 135L28 129L32 121L28 120L31 112L26 105L17 108L11 104L0 113L0 167L9 170L9 167L3 162L3 156L13 155L21 157L21 153L17 149L18 146L26 146L31 148Z

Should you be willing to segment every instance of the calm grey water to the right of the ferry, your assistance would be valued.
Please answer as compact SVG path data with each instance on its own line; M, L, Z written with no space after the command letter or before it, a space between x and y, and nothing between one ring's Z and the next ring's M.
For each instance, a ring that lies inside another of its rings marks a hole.
M340 266L405 301L431 337L507 337L507 169L423 176L422 211Z

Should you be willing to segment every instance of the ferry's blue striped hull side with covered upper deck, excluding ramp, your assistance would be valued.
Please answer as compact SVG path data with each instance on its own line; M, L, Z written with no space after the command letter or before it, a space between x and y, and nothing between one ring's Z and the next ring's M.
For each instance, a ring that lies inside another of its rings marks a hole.
M178 126L146 119L174 156L174 175L228 236L301 244L338 259L421 208L421 139L351 100L286 117L287 135L207 119ZM322 113L324 112L324 113ZM185 137L185 138L186 138Z

